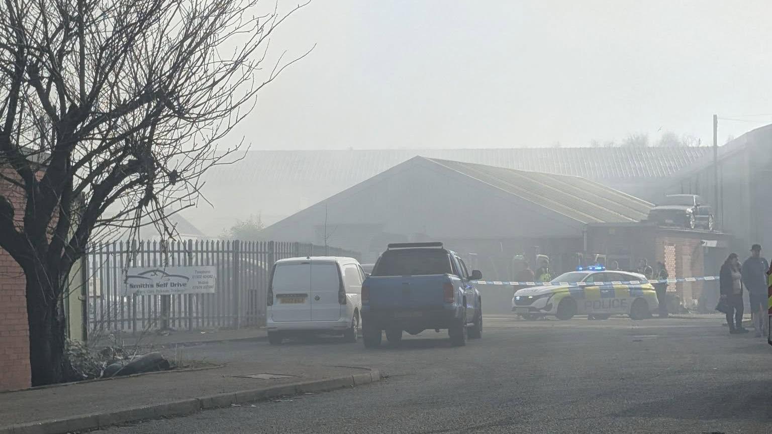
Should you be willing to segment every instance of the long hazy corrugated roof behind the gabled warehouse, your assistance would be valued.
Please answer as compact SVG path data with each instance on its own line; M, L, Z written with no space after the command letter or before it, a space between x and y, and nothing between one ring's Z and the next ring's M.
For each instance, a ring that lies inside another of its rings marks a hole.
M642 180L667 178L709 151L709 147L249 151L241 161L212 168L207 179L215 184L326 180L354 185L421 155L595 180Z

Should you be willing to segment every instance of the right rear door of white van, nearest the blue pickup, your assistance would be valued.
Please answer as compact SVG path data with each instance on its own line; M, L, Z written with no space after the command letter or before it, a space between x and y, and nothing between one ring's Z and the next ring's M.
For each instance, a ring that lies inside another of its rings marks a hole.
M334 321L340 318L338 292L342 281L337 263L311 263L311 320Z

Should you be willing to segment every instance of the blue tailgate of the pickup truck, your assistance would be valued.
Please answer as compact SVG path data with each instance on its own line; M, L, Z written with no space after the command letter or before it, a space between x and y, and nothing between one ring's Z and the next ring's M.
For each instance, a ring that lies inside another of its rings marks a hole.
M370 276L370 307L381 309L441 308L444 283L451 280L445 274L430 276Z

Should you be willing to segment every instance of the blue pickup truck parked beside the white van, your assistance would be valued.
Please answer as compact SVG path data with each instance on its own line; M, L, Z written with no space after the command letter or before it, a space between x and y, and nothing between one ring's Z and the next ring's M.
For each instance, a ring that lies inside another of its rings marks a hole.
M477 270L442 242L389 244L362 283L362 335L366 348L381 345L386 331L397 344L402 331L419 334L447 329L454 346L482 337L482 300Z

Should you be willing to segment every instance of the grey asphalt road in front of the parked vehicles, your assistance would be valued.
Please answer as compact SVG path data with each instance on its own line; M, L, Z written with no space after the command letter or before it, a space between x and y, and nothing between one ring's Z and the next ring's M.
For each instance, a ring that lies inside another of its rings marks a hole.
M371 366L388 379L106 431L772 432L772 347L730 336L720 320L486 317L485 326L463 348L434 331L374 351L334 340L189 348L211 360Z

